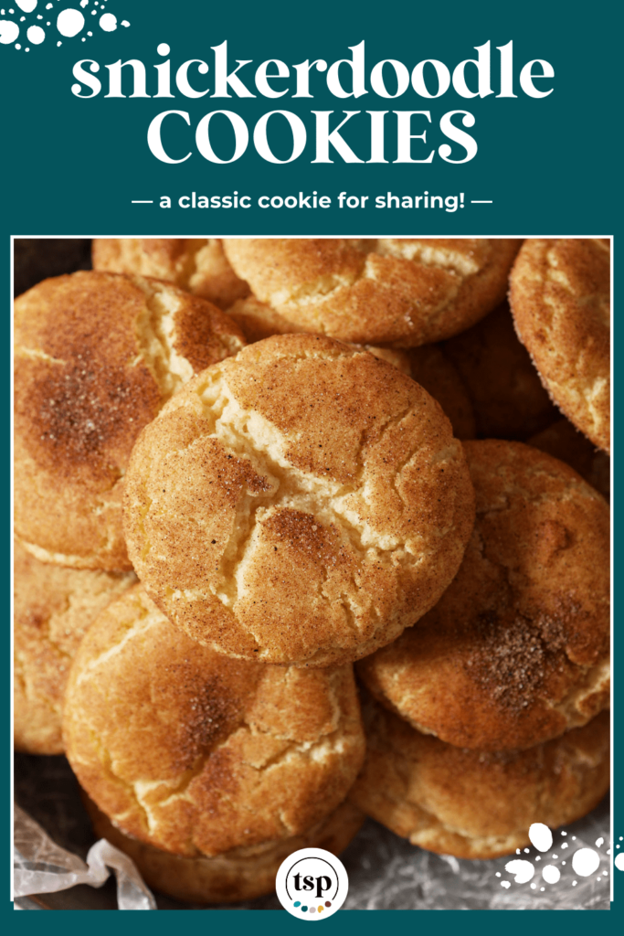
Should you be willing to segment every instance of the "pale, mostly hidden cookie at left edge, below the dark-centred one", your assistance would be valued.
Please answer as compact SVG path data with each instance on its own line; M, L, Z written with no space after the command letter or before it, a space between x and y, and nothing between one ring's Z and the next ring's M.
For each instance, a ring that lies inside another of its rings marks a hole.
M80 640L109 601L137 577L39 563L19 543L13 576L15 748L61 754L65 682Z

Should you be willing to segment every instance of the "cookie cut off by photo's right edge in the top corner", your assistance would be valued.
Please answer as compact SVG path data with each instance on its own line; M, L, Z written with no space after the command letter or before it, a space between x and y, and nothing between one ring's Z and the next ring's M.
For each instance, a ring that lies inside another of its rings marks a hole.
M611 251L607 239L530 239L510 277L515 328L559 409L611 446Z

